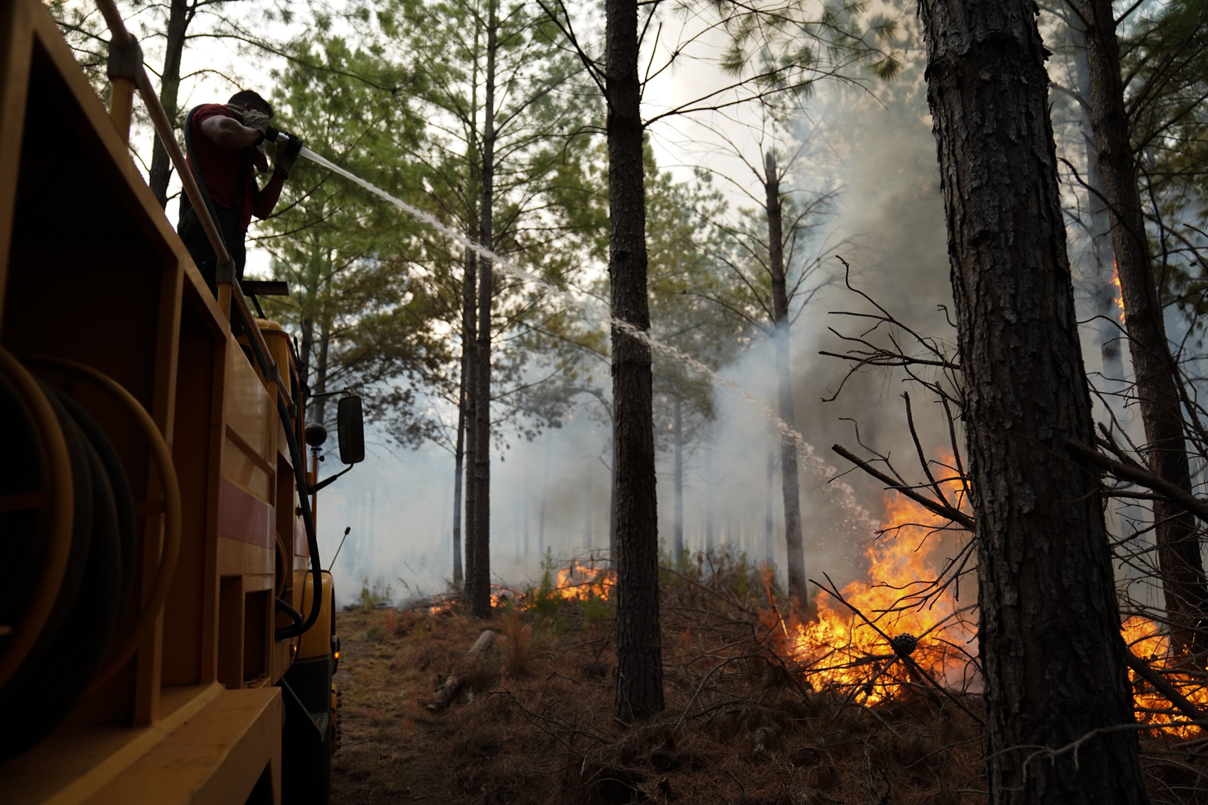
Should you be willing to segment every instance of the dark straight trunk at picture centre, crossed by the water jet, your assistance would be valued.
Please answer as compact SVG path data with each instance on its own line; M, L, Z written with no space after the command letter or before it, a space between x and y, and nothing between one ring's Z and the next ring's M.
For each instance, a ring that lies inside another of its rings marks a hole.
M609 277L612 315L647 332L646 195L643 175L638 0L605 0ZM663 710L658 613L658 506L650 347L612 328L616 473L616 697L625 723Z

